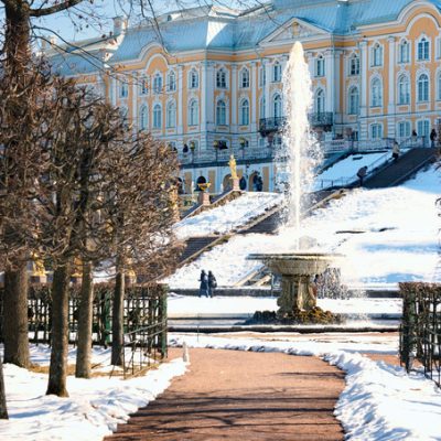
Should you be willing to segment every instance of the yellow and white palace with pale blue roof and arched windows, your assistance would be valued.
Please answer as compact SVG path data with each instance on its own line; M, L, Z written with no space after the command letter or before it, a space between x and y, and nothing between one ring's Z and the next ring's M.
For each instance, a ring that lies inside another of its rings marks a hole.
M105 96L178 151L185 192L230 182L275 189L282 73L300 40L313 85L310 122L325 151L423 142L441 110L441 0L272 0L249 10L170 12L159 26L45 47L61 74Z

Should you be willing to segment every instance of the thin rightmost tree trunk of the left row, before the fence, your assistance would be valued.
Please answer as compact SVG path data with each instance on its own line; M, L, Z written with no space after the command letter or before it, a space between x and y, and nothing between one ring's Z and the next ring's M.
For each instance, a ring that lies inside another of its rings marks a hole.
M122 365L125 276L123 267L120 266L115 280L111 315L111 364L117 366Z

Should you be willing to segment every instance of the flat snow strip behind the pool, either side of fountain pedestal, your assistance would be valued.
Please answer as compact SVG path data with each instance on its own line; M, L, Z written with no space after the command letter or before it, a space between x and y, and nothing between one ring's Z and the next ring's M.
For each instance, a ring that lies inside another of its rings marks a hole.
M319 299L320 308L335 313L346 314L400 314L401 299ZM276 298L256 297L214 297L213 299L169 295L168 313L170 318L216 315L254 314L256 311L277 311Z

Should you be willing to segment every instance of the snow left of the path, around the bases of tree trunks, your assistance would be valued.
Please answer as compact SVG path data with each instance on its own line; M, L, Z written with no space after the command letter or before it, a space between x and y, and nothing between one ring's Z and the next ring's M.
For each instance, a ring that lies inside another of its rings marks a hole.
M94 348L93 364L109 370L110 349ZM31 346L33 363L47 365L50 348ZM75 349L69 363L75 363ZM173 377L183 375L181 358L164 363L144 376L122 380L108 375L92 379L67 377L68 398L46 396L47 375L4 365L10 420L0 420L0 439L8 441L94 441L110 434L129 413L147 406Z

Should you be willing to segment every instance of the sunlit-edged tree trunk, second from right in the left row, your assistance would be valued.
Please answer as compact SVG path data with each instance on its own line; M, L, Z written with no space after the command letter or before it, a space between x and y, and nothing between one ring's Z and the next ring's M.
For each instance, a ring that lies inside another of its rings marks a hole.
M78 346L75 376L90 378L92 321L94 308L94 283L90 262L83 263L82 299L78 310Z

